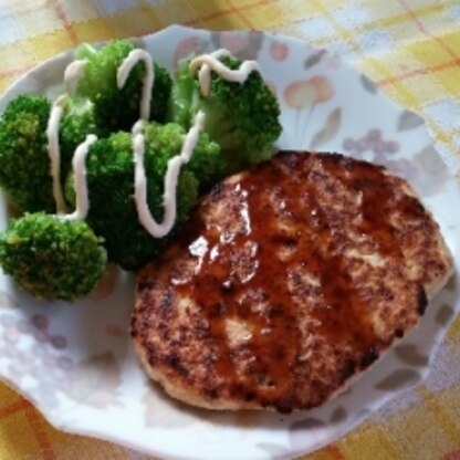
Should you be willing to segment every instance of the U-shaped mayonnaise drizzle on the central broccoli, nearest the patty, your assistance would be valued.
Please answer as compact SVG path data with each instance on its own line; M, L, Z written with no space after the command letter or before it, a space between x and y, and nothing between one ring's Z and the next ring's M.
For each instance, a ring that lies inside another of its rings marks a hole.
M179 155L168 161L168 169L164 180L164 217L163 222L157 222L150 213L147 203L147 178L144 167L145 143L142 134L142 123L133 127L134 134L134 161L135 161L135 200L139 222L155 238L163 238L172 229L177 215L177 181L180 167L187 164L197 145L198 137L205 125L205 114L198 112L194 126L187 133L182 149Z

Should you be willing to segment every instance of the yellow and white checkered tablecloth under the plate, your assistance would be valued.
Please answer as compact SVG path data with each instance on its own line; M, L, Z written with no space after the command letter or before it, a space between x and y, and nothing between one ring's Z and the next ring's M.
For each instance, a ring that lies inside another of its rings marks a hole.
M77 43L142 35L171 23L268 30L337 51L399 104L419 112L438 149L460 155L458 0L0 0L0 91ZM147 458L56 431L0 383L1 460ZM460 318L422 385L305 458L460 459Z

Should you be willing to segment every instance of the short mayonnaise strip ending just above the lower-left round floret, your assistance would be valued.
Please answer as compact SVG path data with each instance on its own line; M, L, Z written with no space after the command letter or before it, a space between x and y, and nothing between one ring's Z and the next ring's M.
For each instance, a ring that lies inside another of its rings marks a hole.
M71 215L62 216L65 220L85 219L90 209L86 184L86 156L90 147L97 140L94 134L88 134L86 139L79 145L72 158L72 168L75 181L75 211Z

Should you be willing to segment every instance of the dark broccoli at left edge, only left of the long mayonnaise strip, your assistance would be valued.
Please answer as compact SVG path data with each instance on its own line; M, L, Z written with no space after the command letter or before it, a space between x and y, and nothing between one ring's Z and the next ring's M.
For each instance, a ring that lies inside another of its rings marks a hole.
M0 119L0 186L23 211L55 209L46 126L51 102L21 95Z

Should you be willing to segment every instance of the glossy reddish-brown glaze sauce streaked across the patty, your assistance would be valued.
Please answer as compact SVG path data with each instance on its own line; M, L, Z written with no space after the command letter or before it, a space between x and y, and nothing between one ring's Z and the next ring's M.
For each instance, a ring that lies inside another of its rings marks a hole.
M284 157L282 167L266 163L258 167L257 175L243 176L232 184L232 194L240 205L237 212L245 222L242 230L222 238L217 223L206 223L203 218L191 222L182 243L190 244L206 236L208 251L198 273L177 286L180 295L192 299L209 320L209 334L218 344L216 373L229 381L239 381L234 384L234 396L244 395L250 400L258 395L266 404L289 393L290 374L299 358L300 306L292 301L289 289L290 276L299 266L316 276L326 305L307 306L317 321L317 332L333 343L352 344L363 356L362 366L370 364L365 363L369 353L374 354L370 362L378 356L378 338L369 322L368 305L358 297L344 257L335 247L333 234L337 228L333 212L321 203L318 189L324 175L339 178L348 190L360 194L353 212L359 218L359 230L372 237L377 251L391 258L401 257L387 222L388 207L395 206L394 191L378 167L349 163L342 156L321 155L320 167L313 171L307 163L314 154L279 155ZM289 170L295 172L288 178ZM265 191L273 191L272 198ZM273 205L273 196L278 205ZM406 200L401 206L409 205ZM280 216L288 230L280 229ZM243 264L243 276L229 261L247 254L248 245L253 252L248 266ZM278 255L280 249L290 250L283 260ZM228 343L228 318L237 318L251 330L244 346L254 359L244 379L234 378L238 356L232 356L234 351Z

